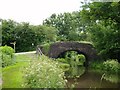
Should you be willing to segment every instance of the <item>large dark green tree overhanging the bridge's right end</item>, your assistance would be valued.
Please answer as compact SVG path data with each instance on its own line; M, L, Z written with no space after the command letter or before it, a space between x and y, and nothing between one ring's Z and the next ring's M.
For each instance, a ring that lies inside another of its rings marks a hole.
M120 2L92 2L83 6L82 20L103 59L120 60Z

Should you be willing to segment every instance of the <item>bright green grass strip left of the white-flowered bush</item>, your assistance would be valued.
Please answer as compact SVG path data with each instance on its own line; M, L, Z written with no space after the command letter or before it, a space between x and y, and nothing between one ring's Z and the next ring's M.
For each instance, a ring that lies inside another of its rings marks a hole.
M2 88L22 88L24 82L22 70L29 61L36 58L35 54L15 55L16 64L2 69Z

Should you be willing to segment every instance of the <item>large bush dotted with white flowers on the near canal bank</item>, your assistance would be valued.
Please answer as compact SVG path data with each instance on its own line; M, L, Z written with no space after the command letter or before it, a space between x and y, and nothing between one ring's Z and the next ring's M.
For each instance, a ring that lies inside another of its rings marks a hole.
M58 62L41 56L31 61L24 70L25 88L64 88L64 72Z

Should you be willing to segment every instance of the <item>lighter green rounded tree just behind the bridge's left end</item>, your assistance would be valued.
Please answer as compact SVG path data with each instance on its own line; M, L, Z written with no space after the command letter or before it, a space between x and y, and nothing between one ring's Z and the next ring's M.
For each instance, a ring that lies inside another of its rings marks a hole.
M52 26L38 25L34 26L36 39L41 43L55 42L57 38L57 29Z

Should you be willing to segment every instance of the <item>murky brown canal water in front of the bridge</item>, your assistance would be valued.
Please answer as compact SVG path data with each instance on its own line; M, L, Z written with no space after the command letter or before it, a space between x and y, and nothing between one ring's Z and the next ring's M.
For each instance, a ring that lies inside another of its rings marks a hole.
M70 75L70 72L67 72L66 75ZM117 88L117 90L120 88L120 79L118 74L103 73L102 71L85 70L84 68L79 68L79 71L77 69L76 72L72 72L72 75L74 75L74 77L67 77L67 87Z

